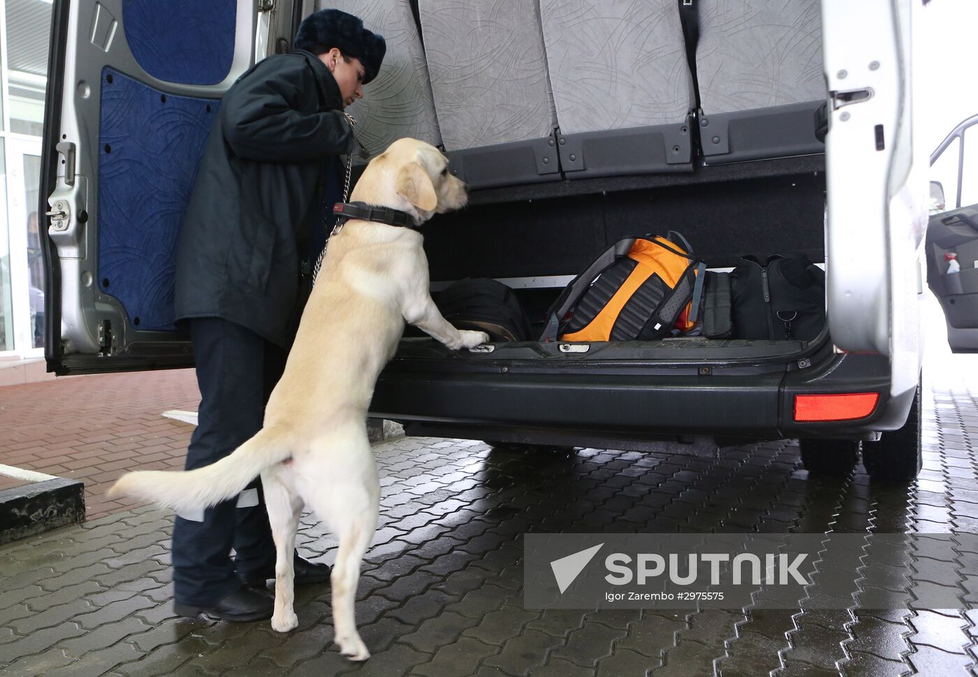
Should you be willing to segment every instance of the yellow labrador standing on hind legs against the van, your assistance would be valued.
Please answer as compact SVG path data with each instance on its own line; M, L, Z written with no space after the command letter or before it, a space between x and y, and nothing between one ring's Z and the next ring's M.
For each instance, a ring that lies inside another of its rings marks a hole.
M401 139L371 161L351 200L407 212L420 225L466 204L465 185L447 167L437 148ZM353 617L360 562L378 518L367 407L405 320L453 350L489 340L441 317L428 293L420 233L348 221L330 239L262 430L212 465L129 473L111 488L111 495L138 496L181 511L232 498L260 474L277 551L272 627L279 632L298 622L292 609L292 551L299 515L309 506L339 539L333 625L340 652L352 660L370 657Z

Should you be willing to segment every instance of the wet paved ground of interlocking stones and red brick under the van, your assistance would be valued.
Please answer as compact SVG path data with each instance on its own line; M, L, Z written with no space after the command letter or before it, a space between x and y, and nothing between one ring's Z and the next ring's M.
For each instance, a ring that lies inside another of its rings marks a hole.
M931 371L940 378L925 389L924 470L908 487L871 483L862 466L845 479L810 477L793 441L715 457L380 444L380 523L357 596L373 653L363 665L332 646L328 586L298 591L299 626L287 634L176 617L171 514L100 497L140 461L179 464L190 426L159 413L195 408L189 372L0 389L0 463L50 472L45 463L67 457L54 465L94 483L97 509L82 526L0 548L0 677L976 674L978 612L526 610L521 542L534 531L974 532L975 366ZM99 462L70 467L85 458ZM335 541L310 516L297 545L333 560ZM947 575L978 575L944 564Z

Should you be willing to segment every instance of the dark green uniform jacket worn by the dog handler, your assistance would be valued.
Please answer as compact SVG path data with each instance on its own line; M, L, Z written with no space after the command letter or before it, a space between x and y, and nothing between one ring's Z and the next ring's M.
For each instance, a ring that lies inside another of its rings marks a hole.
M333 73L315 55L268 57L244 73L221 102L181 225L178 320L222 317L289 344L328 163L352 143Z

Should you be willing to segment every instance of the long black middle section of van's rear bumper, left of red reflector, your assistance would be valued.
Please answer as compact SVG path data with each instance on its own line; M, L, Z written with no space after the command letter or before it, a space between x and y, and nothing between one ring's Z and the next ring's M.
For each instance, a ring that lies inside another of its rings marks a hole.
M371 415L537 428L730 434L778 430L779 378L383 374Z

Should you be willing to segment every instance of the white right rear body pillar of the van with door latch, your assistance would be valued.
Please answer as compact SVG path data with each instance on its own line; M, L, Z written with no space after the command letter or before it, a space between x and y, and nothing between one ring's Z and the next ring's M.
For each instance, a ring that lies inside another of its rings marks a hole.
M921 7L822 0L829 332L839 350L888 356L894 396L916 387L921 359L928 157L912 134L911 97Z

